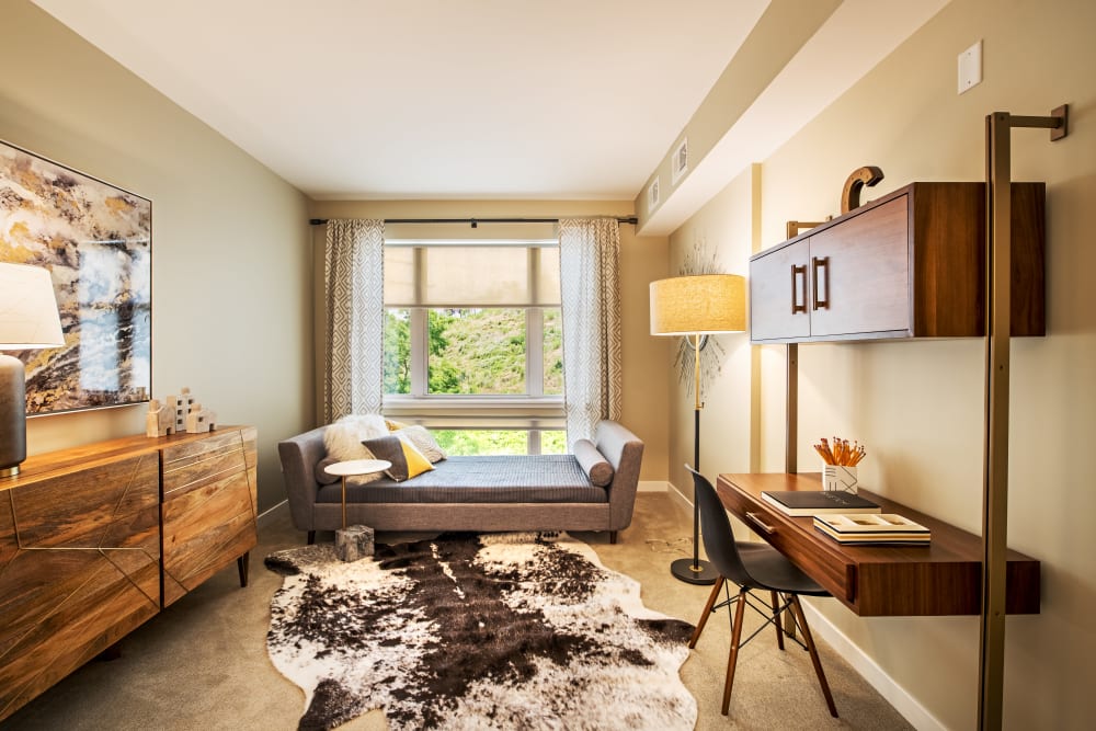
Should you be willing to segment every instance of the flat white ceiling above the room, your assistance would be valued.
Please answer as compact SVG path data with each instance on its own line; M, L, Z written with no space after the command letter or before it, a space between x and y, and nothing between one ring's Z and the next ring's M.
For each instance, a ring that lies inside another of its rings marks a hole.
M769 5L34 2L317 199L633 199Z

